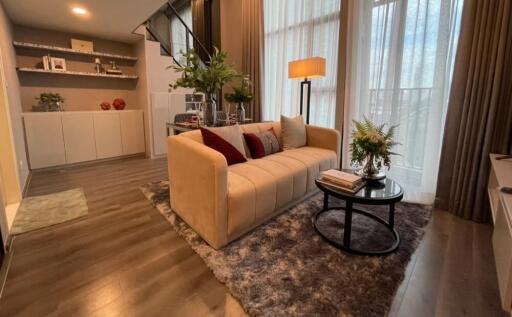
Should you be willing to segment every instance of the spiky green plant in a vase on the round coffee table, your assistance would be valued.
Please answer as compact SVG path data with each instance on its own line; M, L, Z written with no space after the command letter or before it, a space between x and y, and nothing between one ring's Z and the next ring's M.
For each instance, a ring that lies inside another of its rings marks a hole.
M385 124L376 125L366 117L362 121L353 122L355 129L352 131L350 151L352 163L362 166L358 174L368 179L384 178L384 173L380 170L383 166L389 170L391 155L396 155L391 152L391 148L398 144L393 141L397 126L391 126L384 131Z

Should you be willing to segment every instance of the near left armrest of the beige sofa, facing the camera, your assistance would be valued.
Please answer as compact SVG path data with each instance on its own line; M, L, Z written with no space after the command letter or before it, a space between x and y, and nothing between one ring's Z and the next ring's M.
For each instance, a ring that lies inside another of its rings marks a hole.
M222 247L227 243L225 157L182 136L167 143L172 210L212 247Z

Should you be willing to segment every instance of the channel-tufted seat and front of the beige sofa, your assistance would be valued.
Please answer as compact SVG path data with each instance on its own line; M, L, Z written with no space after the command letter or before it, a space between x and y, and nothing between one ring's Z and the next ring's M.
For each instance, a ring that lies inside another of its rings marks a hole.
M336 153L302 147L228 167L228 235L316 189L319 173L336 167Z

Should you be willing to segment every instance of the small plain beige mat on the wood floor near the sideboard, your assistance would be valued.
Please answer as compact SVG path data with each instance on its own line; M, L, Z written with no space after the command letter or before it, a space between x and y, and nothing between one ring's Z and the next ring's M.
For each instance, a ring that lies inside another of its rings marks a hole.
M87 201L81 188L23 198L14 218L12 234L56 225L83 217L88 212Z

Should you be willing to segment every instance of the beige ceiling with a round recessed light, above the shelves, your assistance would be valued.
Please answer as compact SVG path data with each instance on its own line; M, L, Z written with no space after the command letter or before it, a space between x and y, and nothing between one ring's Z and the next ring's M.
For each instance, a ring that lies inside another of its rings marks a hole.
M1 0L0 0L1 1ZM133 42L132 32L157 11L165 0L3 0L15 24ZM88 14L78 16L73 7Z

